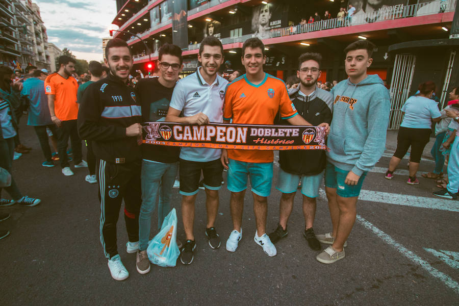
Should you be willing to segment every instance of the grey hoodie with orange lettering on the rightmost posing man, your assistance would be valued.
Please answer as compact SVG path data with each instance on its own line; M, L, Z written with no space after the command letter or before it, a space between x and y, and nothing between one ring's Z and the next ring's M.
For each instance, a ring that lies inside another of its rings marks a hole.
M377 74L359 84L338 83L328 136L327 160L357 175L371 170L382 156L391 110L390 95Z

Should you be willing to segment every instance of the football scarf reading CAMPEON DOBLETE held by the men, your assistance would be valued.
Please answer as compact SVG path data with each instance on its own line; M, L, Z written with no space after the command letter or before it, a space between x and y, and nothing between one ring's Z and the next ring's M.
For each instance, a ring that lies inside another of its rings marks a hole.
M243 150L325 150L325 128L318 126L145 122L143 143Z

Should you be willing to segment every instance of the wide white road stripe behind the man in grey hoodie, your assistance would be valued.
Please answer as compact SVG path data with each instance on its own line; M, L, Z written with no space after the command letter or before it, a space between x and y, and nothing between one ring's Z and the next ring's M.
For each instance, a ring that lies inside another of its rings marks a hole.
M325 190L320 189L319 194L324 199L327 198ZM382 191L361 190L359 200L418 208L438 209L456 213L459 212L459 201L433 198L433 195L432 197L423 197Z

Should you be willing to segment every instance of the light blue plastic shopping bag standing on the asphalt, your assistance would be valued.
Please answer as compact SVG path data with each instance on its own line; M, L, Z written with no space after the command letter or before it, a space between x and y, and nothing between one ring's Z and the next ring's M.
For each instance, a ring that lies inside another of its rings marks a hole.
M177 247L177 213L173 208L164 218L161 231L151 239L147 247L148 259L161 267L175 267L179 258Z

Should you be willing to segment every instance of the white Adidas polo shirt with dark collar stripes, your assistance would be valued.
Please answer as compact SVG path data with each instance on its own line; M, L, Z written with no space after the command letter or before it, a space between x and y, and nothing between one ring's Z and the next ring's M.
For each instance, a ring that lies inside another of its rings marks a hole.
M209 117L210 122L221 123L228 81L217 75L214 83L209 86L202 78L200 68L175 85L169 106L183 111L185 117L202 112ZM214 161L219 159L220 155L220 149L183 147L180 151L181 159L195 162Z

